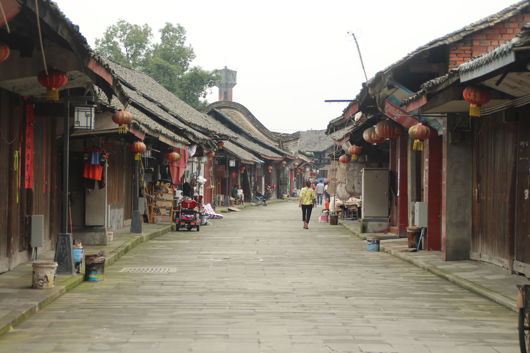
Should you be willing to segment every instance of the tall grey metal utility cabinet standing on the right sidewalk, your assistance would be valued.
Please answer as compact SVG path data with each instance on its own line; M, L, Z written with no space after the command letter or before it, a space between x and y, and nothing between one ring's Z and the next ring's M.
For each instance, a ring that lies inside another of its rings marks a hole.
M388 168L363 168L363 219L388 218Z

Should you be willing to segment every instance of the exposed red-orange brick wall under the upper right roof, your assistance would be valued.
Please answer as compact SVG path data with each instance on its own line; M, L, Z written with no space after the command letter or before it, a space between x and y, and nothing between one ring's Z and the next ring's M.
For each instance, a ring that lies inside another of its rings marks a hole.
M458 42L449 44L449 69L453 69L467 60L491 51L507 40L514 38L527 22L530 22L530 14L519 13L504 22L496 23L488 28L466 35Z

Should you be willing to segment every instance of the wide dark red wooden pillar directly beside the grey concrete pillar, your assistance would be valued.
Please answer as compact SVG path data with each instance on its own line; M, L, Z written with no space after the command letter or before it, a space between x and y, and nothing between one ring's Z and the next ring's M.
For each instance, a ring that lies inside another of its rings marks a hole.
M425 169L423 170L424 201L428 202L426 250L441 250L441 156L442 137L431 129L431 137L425 141Z

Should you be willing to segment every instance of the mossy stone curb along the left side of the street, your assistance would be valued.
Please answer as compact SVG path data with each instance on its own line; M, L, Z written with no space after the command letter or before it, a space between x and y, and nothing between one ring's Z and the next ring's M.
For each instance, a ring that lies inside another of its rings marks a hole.
M108 267L109 265L114 263L114 261L118 260L120 257L125 255L131 249L138 246L140 243L143 243L145 241L148 241L156 237L160 237L163 234L168 233L172 230L175 230L175 224L167 225L164 228L157 229L149 233L130 237L129 239L127 239L126 242L124 242L118 248L105 254L105 267ZM118 251L114 252L116 250ZM30 273L27 276L31 277L32 274ZM4 334L5 332L11 330L13 327L15 327L17 324L21 323L25 319L29 318L34 313L38 312L40 309L42 309L46 305L55 301L58 297L65 294L70 289L83 283L85 275L76 274L74 276L57 276L57 278L60 278L60 277L66 277L66 278L62 280L60 283L57 283L53 289L47 290L48 295L45 298L43 298L42 300L38 302L27 304L25 307L22 307L20 310L16 310L4 316L2 319L0 319L0 336L2 336L2 334ZM43 289L35 289L35 290L43 291Z

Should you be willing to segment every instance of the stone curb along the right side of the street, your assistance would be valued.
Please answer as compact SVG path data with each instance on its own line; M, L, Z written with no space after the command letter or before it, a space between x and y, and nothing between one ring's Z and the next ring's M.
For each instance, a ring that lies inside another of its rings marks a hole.
M357 238L361 240L366 240L366 236L362 236L362 234L359 234L357 231L355 231L352 227L348 227L347 224L342 224L342 227L346 228L350 232L352 232ZM462 287L464 289L467 289L470 292L473 292L475 294L478 294L494 303L497 303L499 305L505 306L508 309L511 309L515 312L518 312L519 309L517 308L517 303L514 300L511 300L510 298L499 294L497 292L493 292L488 288L485 288L481 285L478 285L476 283L473 283L467 279L464 279L462 277L458 277L454 274L447 273L444 270L441 270L437 268L436 266L429 265L425 263L424 261L418 260L416 257L408 255L406 252L401 252L399 250L393 250L390 247L386 247L384 244L381 244L379 246L382 251L390 253L391 255L398 257L404 261L407 261L408 263L411 263L412 265L418 266L419 268L425 269L429 271L430 273L443 278L445 280L448 280L449 282L456 284L459 287Z

